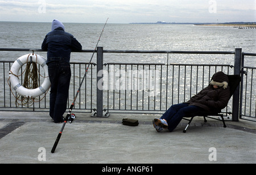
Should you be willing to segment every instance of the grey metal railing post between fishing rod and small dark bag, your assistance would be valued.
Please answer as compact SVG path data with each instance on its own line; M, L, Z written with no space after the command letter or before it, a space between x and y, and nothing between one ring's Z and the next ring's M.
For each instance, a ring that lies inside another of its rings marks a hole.
M103 89L100 82L103 78L103 47L97 47L97 113L92 116L108 117L103 114Z

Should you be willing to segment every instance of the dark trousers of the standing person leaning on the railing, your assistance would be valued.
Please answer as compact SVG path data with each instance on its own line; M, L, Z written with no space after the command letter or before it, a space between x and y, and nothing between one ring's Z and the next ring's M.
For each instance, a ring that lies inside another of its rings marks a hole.
M49 62L48 74L51 81L49 115L58 123L63 120L63 114L67 110L71 68L68 62Z

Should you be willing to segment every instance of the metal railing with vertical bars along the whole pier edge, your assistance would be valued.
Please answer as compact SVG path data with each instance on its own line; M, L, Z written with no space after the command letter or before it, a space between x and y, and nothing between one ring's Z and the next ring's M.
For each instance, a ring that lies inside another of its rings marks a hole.
M9 49L0 51L43 52L41 49ZM91 50L82 52L92 53ZM167 63L104 63L104 55L112 54L159 54L165 55ZM170 64L168 57L173 54L188 55L230 55L232 64ZM97 62L90 65L84 85L76 99L74 111L93 113L92 116L106 117L111 113L163 114L172 104L187 101L192 95L209 84L211 76L218 71L226 74L241 74L241 86L238 87L226 109L226 115L232 120L255 119L255 95L253 86L255 68L243 66L245 56L254 53L222 51L110 51L97 48ZM38 97L39 102L27 107L15 104L15 92L11 94L7 79L11 61L0 61L0 110L48 111L49 92L46 97ZM75 97L88 63L71 62L72 78L69 89L68 107ZM42 71L42 70L41 70ZM245 78L243 78L245 77ZM22 78L21 78L22 79ZM21 80L22 81L22 80ZM249 90L250 89L250 90ZM241 97L241 98L240 98ZM94 112L93 112L94 111Z

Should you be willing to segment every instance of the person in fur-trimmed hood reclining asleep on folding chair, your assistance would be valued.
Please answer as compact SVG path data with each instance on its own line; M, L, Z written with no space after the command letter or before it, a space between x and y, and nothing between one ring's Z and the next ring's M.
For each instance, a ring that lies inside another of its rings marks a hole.
M198 114L205 111L220 111L224 109L229 102L230 87L229 78L223 72L217 72L213 75L209 86L205 87L198 94L191 97L188 102L172 105L160 119L153 120L153 126L156 131L168 129L172 132L181 119L189 114Z

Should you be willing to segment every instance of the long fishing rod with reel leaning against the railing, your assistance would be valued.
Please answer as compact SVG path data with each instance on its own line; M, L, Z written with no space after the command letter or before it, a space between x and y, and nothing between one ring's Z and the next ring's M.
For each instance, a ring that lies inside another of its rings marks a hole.
M106 20L106 23L108 22L108 20L109 20L109 18ZM105 28L105 26L106 26L106 23L104 24L104 27L103 27L103 29L102 29L102 31L101 31L101 35L102 35L102 33L104 32L104 28ZM52 147L52 151L51 151L52 153L55 152L55 149L56 149L56 147L57 147L57 144L59 143L60 137L61 137L62 132L63 132L63 130L64 130L65 124L67 124L68 119L71 118L71 122L72 122L73 119L75 118L75 116L71 115L71 111L72 111L72 109L73 109L73 107L74 107L74 105L75 105L75 101L76 101L77 95L79 94L79 92L80 92L80 90L81 90L81 86L82 86L82 83L84 82L84 79L85 79L85 77L86 77L86 74L88 73L88 69L89 69L90 63L92 62L93 55L94 55L94 53L96 52L96 48L97 48L97 46L98 46L98 43L100 42L101 35L100 35L100 38L98 39L98 42L97 42L97 44L96 44L96 47L94 48L92 57L90 58L89 64L88 64L88 66L87 66L87 68L86 68L86 70L85 70L84 77L82 78L82 81L81 81L81 84L80 84L80 86L79 86L79 89L77 90L76 96L75 96L75 98L73 99L73 102L72 102L71 106L69 107L69 111L68 111L68 114L67 114L67 116L66 116L66 118L65 118L65 120L64 120L63 126L61 127L61 130L60 130L59 134L57 135L57 138L56 138L56 140L55 140L55 143L54 143L54 145L53 145L53 147Z

